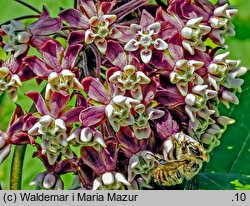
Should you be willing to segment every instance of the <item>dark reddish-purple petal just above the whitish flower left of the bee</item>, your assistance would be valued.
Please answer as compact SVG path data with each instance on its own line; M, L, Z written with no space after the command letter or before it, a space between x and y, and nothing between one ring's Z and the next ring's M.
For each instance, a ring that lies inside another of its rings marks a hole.
M121 127L116 136L122 149L130 151L132 154L140 151L139 141L130 127Z

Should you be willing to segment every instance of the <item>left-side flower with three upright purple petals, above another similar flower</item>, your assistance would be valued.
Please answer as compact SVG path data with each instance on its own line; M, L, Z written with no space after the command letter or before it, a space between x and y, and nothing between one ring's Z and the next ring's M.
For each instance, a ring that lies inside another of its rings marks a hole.
M24 59L24 62L33 69L38 78L48 80L45 91L46 100L51 97L51 93L54 91L83 89L76 78L77 68L74 67L81 48L82 45L73 44L64 51L58 42L48 40L41 48L44 61L36 56Z

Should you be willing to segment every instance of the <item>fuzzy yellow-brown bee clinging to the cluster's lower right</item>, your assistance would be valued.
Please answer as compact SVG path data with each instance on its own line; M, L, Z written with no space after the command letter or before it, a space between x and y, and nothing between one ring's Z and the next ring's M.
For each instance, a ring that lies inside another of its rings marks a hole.
M208 161L203 146L182 132L165 141L163 157L153 156L158 163L153 178L156 184L162 186L173 186L192 179L203 162Z

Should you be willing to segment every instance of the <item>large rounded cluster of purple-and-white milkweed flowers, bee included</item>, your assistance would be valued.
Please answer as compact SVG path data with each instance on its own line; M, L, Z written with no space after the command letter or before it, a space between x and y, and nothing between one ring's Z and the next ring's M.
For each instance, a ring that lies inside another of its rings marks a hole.
M0 95L18 103L26 81L45 86L0 131L0 163L11 145L35 145L45 171L31 185L44 189L62 189L65 173L72 189L190 180L234 122L217 107L239 103L247 72L223 51L236 12L226 0L79 0L2 25Z

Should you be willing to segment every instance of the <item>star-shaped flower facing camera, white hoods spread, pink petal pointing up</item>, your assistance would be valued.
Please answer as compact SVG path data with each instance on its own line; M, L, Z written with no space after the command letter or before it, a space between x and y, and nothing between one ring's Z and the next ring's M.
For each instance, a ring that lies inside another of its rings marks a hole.
M142 12L140 25L131 24L130 29L134 37L126 43L124 49L126 51L140 49L140 57L145 64L150 62L153 50L164 51L168 48L168 44L158 37L161 24L155 22L154 17L146 10Z

